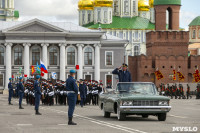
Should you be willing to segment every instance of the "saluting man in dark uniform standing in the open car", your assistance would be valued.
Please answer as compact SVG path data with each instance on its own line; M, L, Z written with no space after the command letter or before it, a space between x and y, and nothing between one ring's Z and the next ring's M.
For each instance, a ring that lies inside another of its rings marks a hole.
M132 82L131 73L127 70L128 65L122 64L121 67L116 68L112 74L117 74L119 77L119 82Z

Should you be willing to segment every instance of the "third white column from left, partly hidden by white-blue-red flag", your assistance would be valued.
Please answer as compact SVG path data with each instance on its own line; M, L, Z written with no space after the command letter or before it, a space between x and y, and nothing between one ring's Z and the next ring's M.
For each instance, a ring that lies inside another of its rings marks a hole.
M47 66L47 47L49 46L49 44L42 44L42 62L44 63L45 67L48 69L48 66ZM44 74L44 79L47 79L47 75L48 74Z

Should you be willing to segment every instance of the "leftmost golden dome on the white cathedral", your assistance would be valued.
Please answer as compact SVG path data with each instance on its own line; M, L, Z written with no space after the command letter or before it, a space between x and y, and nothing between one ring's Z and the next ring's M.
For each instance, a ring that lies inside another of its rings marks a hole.
M78 2L79 10L93 10L94 9L94 1L93 0L80 0Z

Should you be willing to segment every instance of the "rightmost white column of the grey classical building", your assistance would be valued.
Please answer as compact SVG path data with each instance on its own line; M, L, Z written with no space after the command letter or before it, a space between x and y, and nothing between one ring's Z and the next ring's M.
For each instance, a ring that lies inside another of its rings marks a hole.
M100 80L100 44L95 44L95 80L99 82Z

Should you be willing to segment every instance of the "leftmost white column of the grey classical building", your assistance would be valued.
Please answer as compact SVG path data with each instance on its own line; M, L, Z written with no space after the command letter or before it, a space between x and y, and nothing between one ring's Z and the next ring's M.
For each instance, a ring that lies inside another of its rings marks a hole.
M11 48L12 43L5 43L6 46L6 79L5 79L5 89L8 89L9 78L12 75L12 65L11 65Z

